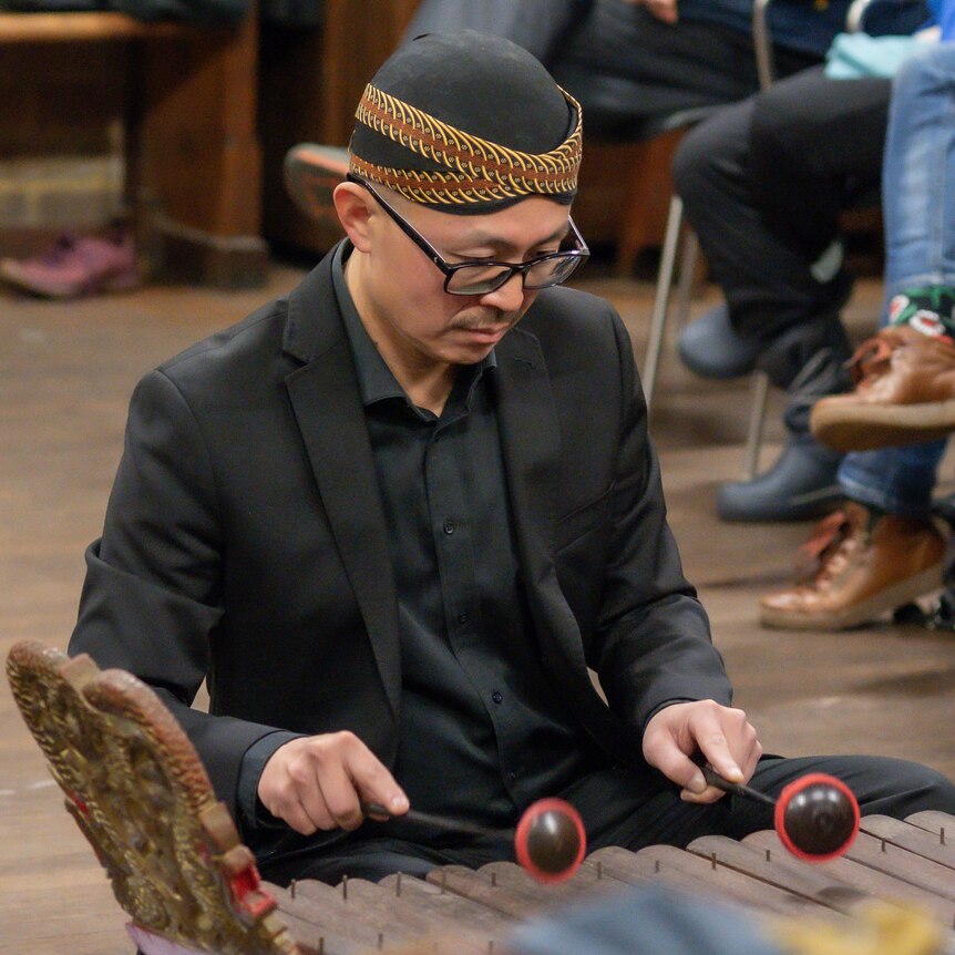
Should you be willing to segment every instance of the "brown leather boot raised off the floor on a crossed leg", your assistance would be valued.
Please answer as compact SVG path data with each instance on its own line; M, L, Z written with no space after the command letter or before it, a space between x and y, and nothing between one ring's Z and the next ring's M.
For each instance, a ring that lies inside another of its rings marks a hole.
M870 451L955 431L955 342L947 336L892 326L863 342L850 363L854 390L813 405L817 441Z

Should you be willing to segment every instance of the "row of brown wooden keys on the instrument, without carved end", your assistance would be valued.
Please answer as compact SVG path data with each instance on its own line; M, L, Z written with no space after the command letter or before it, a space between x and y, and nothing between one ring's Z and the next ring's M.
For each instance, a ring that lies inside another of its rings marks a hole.
M302 955L503 953L516 926L568 902L659 885L736 903L764 914L845 921L873 897L912 904L955 941L955 817L920 812L905 822L866 817L865 831L839 859L809 864L774 831L737 842L704 836L687 850L656 845L599 849L559 885L542 885L521 866L495 862L472 871L432 870L427 880L391 875L380 883L311 880L268 885L277 914Z

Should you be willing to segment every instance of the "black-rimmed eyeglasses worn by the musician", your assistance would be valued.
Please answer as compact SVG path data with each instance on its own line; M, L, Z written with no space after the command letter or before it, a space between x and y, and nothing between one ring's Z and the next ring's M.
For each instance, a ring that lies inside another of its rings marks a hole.
M449 263L404 216L396 212L378 195L370 183L352 173L348 174L348 179L364 186L398 227L441 269L444 275L444 291L449 295L487 295L496 291L515 275L521 276L525 289L550 288L566 281L591 255L584 237L568 216L567 223L571 226L571 232L564 242L572 243L572 248L547 253L547 255L537 256L520 265L511 261L486 261L484 259Z

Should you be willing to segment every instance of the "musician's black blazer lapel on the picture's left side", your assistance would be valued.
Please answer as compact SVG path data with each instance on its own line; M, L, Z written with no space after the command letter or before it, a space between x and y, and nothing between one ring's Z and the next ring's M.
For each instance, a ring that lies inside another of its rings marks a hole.
M325 269L326 281L318 275ZM398 600L384 513L330 259L289 297L286 350L307 363L286 378L321 501L355 591L392 713L401 696Z

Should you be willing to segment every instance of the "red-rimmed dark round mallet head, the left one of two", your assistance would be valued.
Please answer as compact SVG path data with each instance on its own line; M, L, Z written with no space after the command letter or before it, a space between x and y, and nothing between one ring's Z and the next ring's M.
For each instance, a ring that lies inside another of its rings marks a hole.
M538 882L563 882L584 861L584 821L563 799L540 799L517 823L514 851L517 862Z

